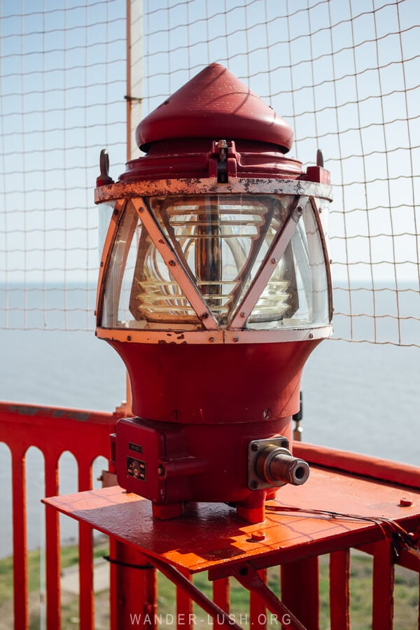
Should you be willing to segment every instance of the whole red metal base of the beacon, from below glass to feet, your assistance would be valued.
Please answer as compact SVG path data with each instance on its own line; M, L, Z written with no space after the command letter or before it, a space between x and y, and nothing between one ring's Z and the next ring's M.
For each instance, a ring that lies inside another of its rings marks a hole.
M181 514L186 500L225 500L239 503L244 519L263 520L265 493L248 487L247 445L274 435L291 442L302 367L318 343L111 342L130 374L132 411L148 419L118 422L120 485L153 500L158 518ZM133 443L142 454L129 448ZM133 463L144 472L133 475ZM165 470L161 477L158 465Z

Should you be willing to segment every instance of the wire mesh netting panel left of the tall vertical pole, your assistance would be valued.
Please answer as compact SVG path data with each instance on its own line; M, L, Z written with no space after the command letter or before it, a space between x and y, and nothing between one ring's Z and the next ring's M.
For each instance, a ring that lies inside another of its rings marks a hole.
M124 3L3 2L0 29L0 327L86 330L99 151L125 160Z

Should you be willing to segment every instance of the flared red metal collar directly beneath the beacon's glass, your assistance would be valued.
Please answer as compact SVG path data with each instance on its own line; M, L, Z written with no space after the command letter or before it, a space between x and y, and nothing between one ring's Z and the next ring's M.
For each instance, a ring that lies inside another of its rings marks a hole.
M267 408L272 421L295 414L302 368L319 342L110 343L130 374L134 415L160 422L220 425L262 424Z

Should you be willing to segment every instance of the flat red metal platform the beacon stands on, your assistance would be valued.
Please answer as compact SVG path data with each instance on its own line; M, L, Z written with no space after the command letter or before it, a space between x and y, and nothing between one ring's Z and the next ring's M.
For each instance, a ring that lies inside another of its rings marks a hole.
M232 565L245 559L259 569L384 538L383 529L368 520L295 512L287 506L388 517L406 528L418 526L419 489L410 491L414 499L410 507L400 507L400 493L400 486L313 467L306 484L298 489L285 486L277 493L271 505L286 511L269 512L258 525L244 524L228 505L207 503L188 505L182 519L156 521L147 500L118 486L50 498L47 503L150 556L191 573L209 570L218 578L231 575ZM138 527L133 526L136 523ZM251 540L254 531L263 531L265 539ZM391 535L390 528L385 526L385 531Z

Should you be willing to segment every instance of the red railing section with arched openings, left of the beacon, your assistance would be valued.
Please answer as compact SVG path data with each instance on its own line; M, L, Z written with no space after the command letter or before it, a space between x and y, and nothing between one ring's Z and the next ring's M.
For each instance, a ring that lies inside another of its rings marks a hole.
M99 456L109 456L109 432L118 416L15 403L0 403L0 441L12 454L13 493L13 583L14 625L28 627L27 524L25 453L38 448L44 457L45 494L55 495L58 487L58 461L71 451L78 461L79 489L92 487L91 465ZM83 435L83 438L80 437ZM45 512L45 583L48 630L61 626L59 521L55 510ZM93 629L91 530L80 526L80 619L83 627Z

